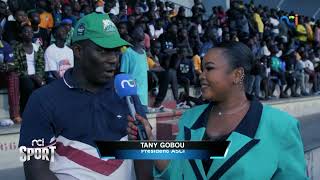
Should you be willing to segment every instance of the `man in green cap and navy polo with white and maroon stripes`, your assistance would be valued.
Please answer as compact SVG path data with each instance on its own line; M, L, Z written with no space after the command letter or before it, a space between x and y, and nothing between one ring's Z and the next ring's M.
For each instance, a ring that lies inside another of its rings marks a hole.
M27 179L135 179L132 160L102 160L95 140L127 140L129 109L115 93L120 38L106 14L92 13L75 27L75 65L63 78L33 93L23 114L20 146L34 139L55 146L54 162L24 163ZM137 97L137 112L145 117Z

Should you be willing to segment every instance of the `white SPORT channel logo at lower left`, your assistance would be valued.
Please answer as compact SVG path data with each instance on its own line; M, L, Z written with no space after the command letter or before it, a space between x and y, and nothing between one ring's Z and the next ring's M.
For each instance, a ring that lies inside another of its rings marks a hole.
M56 149L55 146L44 146L44 139L34 139L31 141L32 147L37 148L27 148L26 146L20 146L20 161L25 162L29 161L33 156L36 160L45 160L54 162L54 151ZM49 158L50 155L50 158Z

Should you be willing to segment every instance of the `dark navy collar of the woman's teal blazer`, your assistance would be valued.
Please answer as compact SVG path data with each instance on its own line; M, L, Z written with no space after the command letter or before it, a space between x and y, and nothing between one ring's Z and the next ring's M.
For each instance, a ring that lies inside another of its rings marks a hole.
M234 131L246 135L248 137L254 138L260 123L263 106L253 96L247 95L247 97L250 100L249 110ZM213 102L209 103L209 105L199 116L197 121L192 125L191 129L206 127L212 107Z

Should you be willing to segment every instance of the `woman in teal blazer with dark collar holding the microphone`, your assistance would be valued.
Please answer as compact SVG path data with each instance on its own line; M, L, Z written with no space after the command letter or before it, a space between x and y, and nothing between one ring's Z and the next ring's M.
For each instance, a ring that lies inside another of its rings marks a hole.
M308 179L298 121L245 93L251 62L250 49L239 42L211 49L200 76L202 96L211 102L186 111L179 121L177 140L230 141L225 158L157 160L155 178ZM152 140L147 120L138 119ZM129 122L129 138L136 138L135 129Z

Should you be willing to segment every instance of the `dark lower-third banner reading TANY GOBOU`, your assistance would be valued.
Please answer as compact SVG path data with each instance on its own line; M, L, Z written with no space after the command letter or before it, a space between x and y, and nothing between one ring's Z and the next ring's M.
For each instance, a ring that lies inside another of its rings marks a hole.
M96 141L103 159L224 158L230 141Z

